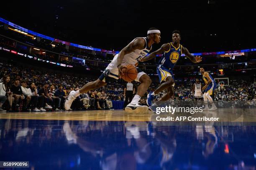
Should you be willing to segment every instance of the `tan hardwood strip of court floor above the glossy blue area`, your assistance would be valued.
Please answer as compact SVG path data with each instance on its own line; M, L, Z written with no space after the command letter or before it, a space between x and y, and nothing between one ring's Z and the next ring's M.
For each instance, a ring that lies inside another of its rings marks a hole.
M126 113L124 110L90 110L66 112L22 112L0 114L0 119L92 120L92 121L156 121L156 117L219 117L219 122L256 122L256 109L217 109L202 114Z

